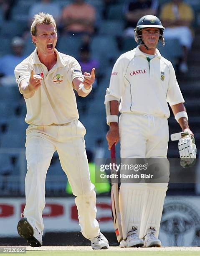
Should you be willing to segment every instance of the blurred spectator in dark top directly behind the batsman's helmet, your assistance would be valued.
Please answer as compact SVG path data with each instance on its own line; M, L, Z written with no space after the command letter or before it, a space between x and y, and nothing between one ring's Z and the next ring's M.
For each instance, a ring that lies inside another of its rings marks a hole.
M127 0L124 4L126 20L124 36L134 37L137 21L144 15L157 15L158 0Z

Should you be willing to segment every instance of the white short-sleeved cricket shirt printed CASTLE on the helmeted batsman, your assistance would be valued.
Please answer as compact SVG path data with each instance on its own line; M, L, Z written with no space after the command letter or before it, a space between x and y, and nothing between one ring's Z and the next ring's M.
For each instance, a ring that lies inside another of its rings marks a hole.
M121 113L170 117L170 106L185 102L172 63L158 50L153 59L137 46L122 54L114 64L110 78L110 94L121 100Z

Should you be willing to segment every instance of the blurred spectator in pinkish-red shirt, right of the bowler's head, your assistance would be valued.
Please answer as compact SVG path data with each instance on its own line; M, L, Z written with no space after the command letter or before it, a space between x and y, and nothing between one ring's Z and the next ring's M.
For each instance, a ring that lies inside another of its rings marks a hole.
M61 23L63 32L69 34L93 34L96 21L95 8L84 0L73 0L63 8Z

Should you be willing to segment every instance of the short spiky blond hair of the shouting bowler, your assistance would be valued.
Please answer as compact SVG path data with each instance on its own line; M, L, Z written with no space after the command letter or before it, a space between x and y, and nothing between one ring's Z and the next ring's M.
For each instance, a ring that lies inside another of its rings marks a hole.
M39 24L52 24L57 32L57 28L56 28L56 21L54 20L53 16L49 13L39 13L39 14L35 14L33 16L33 23L30 27L30 33L32 36L36 36L37 33L37 26Z

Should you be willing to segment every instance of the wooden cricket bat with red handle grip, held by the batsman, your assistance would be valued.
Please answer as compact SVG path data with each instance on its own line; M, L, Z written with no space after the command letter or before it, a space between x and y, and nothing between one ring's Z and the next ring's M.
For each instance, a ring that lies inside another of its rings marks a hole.
M116 152L115 145L111 147L111 162L116 164ZM116 174L116 171L111 170L111 174ZM120 242L123 239L122 235L122 224L121 224L121 215L119 211L119 187L118 182L113 183L111 179L111 210L112 210L112 219L114 224L114 230L116 234L117 241Z

